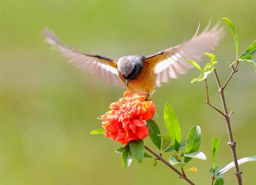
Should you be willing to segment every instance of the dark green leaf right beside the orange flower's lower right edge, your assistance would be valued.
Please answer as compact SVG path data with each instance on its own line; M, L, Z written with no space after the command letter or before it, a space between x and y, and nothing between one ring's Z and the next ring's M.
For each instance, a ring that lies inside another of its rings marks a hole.
M150 119L147 121L147 127L150 139L155 144L155 146L157 146L159 150L161 150L161 137L157 135L160 134L160 130L157 123Z

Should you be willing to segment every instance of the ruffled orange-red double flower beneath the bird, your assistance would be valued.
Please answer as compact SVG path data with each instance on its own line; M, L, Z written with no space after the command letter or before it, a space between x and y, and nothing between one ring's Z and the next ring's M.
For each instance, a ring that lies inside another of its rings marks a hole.
M125 91L123 98L109 106L109 111L101 116L104 136L126 144L132 140L144 139L148 136L146 121L155 114L152 101L145 101L143 94L131 94Z

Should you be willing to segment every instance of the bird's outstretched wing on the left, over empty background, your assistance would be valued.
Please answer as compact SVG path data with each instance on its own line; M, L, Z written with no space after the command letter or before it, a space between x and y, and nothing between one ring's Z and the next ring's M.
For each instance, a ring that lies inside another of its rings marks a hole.
M92 55L76 51L69 46L61 44L54 32L47 27L44 29L46 37L45 42L51 44L54 49L61 52L68 62L74 64L77 68L93 73L99 79L110 83L113 86L124 86L117 72L117 59L109 58L101 55Z

